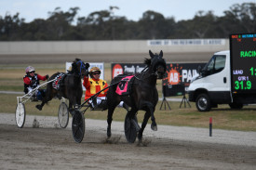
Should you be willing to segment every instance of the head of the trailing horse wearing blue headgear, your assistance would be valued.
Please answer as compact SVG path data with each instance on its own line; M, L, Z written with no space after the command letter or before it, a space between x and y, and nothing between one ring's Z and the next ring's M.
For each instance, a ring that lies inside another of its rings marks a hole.
M81 59L74 59L72 63L72 71L82 77L88 74L89 64L84 63Z

